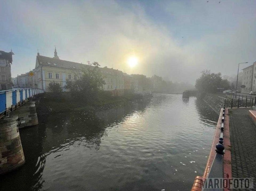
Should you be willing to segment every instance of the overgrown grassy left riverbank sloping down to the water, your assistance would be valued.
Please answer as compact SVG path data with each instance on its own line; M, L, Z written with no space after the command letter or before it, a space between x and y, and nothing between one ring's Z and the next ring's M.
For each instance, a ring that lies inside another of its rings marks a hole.
M99 94L98 98L85 103L81 99L75 99L69 92L61 95L54 93L43 93L35 98L38 115L47 113L66 113L70 111L81 111L90 109L110 109L117 106L124 106L132 101L142 100L142 96L128 94L125 96L109 96L105 93Z

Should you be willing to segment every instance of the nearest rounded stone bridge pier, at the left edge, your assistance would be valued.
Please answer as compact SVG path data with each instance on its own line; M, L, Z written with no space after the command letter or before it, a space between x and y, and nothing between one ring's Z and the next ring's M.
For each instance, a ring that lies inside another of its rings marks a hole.
M18 116L9 116L0 120L0 174L25 163L17 119Z

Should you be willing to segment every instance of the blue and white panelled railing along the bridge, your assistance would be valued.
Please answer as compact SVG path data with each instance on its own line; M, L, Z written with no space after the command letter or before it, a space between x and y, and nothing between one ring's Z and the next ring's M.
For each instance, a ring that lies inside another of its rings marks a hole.
M0 91L0 114L39 93L44 93L44 90L38 88L20 88Z

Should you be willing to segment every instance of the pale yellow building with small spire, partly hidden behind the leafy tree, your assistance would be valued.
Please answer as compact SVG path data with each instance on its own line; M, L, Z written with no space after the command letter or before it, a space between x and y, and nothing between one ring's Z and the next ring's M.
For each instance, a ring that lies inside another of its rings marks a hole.
M81 77L81 70L86 67L93 67L82 63L71 62L67 60L60 60L56 48L54 50L54 57L41 56L39 53L36 56L35 64L35 86L48 91L49 83L51 81L58 82L62 85L63 91L66 91L65 86L68 80L76 80ZM103 90L114 91L124 89L123 72L117 69L100 68L105 85Z

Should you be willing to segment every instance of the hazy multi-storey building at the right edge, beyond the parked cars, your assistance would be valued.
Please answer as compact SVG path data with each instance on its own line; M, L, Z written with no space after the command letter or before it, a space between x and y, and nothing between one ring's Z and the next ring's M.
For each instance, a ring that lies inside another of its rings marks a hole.
M243 70L242 76L242 85L245 85L245 88L242 88L242 92L250 92L256 90L256 62L254 62L251 66L248 66Z

